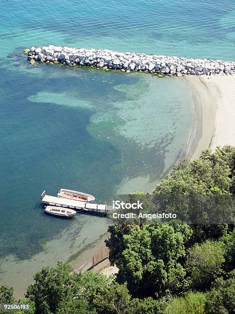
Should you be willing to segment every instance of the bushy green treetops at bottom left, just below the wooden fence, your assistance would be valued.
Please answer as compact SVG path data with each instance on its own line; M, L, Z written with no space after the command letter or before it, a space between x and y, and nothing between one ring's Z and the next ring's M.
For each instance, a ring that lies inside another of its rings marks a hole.
M70 272L68 265L58 263L56 268L44 267L35 274L26 297L35 303L36 314L93 312L95 293L111 280L92 271L73 276Z

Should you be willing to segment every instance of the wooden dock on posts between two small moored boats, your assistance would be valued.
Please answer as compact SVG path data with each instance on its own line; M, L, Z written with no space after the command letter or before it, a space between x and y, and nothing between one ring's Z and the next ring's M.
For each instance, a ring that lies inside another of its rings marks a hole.
M80 202L76 200L58 198L55 196L47 195L46 191L44 190L41 194L41 206L48 206L48 205L71 208L74 210L82 209L86 211L104 212L104 213L106 213L109 210L109 208L107 207L110 207L103 204L87 203L87 202Z

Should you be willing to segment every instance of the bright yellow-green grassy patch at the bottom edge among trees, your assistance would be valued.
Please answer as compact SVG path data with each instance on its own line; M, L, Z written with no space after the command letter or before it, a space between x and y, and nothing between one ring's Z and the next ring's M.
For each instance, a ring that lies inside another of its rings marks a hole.
M204 314L205 302L205 293L189 292L184 298L173 298L164 314Z

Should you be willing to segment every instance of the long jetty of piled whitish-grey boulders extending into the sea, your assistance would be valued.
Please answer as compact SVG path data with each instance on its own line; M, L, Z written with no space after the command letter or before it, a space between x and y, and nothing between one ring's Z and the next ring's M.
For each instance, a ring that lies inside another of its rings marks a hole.
M68 66L90 66L117 69L129 73L139 71L166 75L232 75L235 62L193 59L165 55L148 55L112 50L69 48L58 46L25 49L31 64L60 63Z

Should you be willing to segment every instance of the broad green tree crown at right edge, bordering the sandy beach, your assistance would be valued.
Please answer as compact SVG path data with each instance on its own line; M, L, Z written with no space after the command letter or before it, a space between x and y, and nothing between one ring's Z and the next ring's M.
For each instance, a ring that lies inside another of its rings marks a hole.
M215 229L209 226L211 223L234 222L234 201L230 197L235 180L234 160L235 148L230 146L215 152L206 149L193 162L183 158L154 190L155 206L175 212L184 221L197 222L203 229ZM161 201L163 195L168 197L167 202ZM203 232L197 226L195 241L200 239L200 233Z

